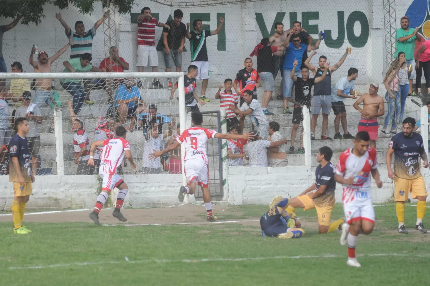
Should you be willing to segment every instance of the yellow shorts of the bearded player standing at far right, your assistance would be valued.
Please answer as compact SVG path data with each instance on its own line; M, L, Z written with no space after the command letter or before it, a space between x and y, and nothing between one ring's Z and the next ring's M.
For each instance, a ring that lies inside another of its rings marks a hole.
M412 199L418 196L427 196L426 185L423 177L415 179L402 179L394 177L394 201L405 202L411 193Z

